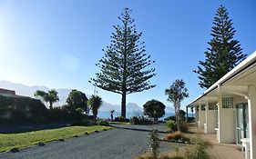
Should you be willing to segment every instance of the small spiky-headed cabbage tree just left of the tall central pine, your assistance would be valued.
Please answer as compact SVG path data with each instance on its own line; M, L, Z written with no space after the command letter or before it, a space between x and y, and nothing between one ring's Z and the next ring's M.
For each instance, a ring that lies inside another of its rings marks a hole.
M96 124L97 110L100 107L100 105L102 104L102 99L98 95L93 94L89 98L87 103L90 105L90 108L92 110L92 114L93 114L93 117L94 117L94 123Z

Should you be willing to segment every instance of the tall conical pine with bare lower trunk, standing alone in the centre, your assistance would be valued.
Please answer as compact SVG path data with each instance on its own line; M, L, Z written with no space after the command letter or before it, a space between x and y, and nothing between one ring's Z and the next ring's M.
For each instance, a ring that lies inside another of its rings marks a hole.
M113 93L122 94L121 115L126 117L126 95L142 92L155 87L149 79L156 74L154 68L148 68L154 63L150 55L146 55L144 42L139 38L142 33L136 31L134 19L130 17L130 10L124 9L121 17L121 25L114 25L115 33L112 33L111 45L103 51L105 55L99 60L97 66L100 73L91 79L93 83Z

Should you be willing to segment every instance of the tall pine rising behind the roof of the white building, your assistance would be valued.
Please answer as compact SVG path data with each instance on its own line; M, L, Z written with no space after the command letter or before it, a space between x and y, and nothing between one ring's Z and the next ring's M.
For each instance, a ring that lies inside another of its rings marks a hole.
M242 54L239 41L233 38L236 30L232 25L227 9L220 5L211 28L210 47L204 53L205 61L200 61L198 70L194 71L199 74L202 88L209 88L247 56Z

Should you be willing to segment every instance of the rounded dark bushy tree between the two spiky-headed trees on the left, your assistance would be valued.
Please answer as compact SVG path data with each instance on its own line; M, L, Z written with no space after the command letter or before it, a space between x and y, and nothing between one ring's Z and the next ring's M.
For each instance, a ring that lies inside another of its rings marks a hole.
M73 109L82 108L88 114L87 95L73 89L67 97L67 104Z

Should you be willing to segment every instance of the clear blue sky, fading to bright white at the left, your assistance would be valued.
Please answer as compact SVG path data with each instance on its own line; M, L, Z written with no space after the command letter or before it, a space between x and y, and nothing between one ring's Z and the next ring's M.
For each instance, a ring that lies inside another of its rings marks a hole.
M172 106L164 94L176 79L183 79L189 102L203 93L199 86L199 60L209 47L213 17L224 5L237 30L243 53L256 51L256 1L219 0L0 0L0 80L49 88L78 89L93 94L90 78L110 45L113 25L124 8L132 10L147 54L156 63L157 86L128 94L127 103L142 106L157 99ZM121 95L97 88L110 104L120 104Z

